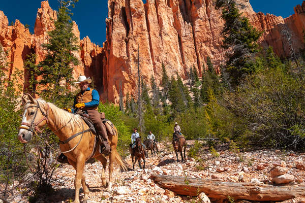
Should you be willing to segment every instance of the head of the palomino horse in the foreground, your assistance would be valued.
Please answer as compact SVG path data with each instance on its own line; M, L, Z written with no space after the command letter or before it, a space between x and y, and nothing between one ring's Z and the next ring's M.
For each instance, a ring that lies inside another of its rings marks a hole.
M41 132L40 128L48 123L48 110L45 111L41 106L41 101L34 99L30 94L22 96L23 118L19 127L18 139L21 143L31 141L36 131Z

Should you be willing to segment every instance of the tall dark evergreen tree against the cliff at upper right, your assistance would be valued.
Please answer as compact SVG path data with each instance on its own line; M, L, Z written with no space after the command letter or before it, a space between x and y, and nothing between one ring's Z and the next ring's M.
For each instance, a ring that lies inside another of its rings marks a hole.
M230 48L226 70L231 83L236 85L241 77L255 71L253 59L259 51L257 40L261 32L250 25L248 18L241 16L235 0L217 0L216 8L222 9L225 21L222 31L224 48Z

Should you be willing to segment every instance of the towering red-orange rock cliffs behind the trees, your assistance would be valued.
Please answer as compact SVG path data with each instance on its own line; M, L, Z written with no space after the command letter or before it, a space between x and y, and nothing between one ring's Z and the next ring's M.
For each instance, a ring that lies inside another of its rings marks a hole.
M255 13L248 0L238 2L245 5L243 15L264 31L259 40L262 46L272 46L279 56L290 56L304 47L305 2L285 19ZM178 73L186 78L191 66L201 75L207 56L215 67L225 61L221 46L224 22L212 0L147 0L146 4L142 0L108 0L108 9L103 48L86 37L79 39L81 50L74 53L81 61L74 69L74 77L93 77L103 100L118 103L120 85L124 95L136 94L138 46L141 77L149 82L154 76L157 84L162 77L162 63L169 76ZM47 42L47 31L53 29L50 19L56 19L56 12L47 1L42 2L31 35L18 20L8 26L7 17L0 11L0 43L12 61L9 74L17 69L23 71L28 53L36 53L37 62L43 60L41 44ZM79 38L75 23L74 33Z

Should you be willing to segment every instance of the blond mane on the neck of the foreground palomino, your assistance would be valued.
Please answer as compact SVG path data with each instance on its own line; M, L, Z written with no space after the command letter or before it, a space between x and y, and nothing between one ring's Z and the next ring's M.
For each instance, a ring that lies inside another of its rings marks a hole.
M72 131L75 127L82 128L82 119L79 115L71 114L63 109L56 107L52 103L47 103L41 98L38 98L37 101L45 111L48 108L47 104L49 105L49 111L52 111L54 115L53 122L58 128L63 127L64 125L66 125L65 128L71 128Z

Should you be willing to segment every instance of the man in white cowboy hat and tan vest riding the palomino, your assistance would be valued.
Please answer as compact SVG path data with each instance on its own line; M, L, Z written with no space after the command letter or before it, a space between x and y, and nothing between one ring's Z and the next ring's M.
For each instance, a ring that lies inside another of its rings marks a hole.
M78 82L74 84L78 84L80 88L80 92L76 94L74 97L73 109L67 109L70 113L83 113L88 114L90 120L93 122L98 134L102 137L103 141L101 146L103 146L102 154L109 154L110 145L107 136L106 127L101 120L101 115L98 112L98 106L100 103L100 95L97 90L90 88L89 84L92 80L86 76L80 76ZM100 140L100 139L99 139ZM101 142L101 141L100 141ZM65 159L64 154L60 154L58 157L58 161L60 162L62 159Z

